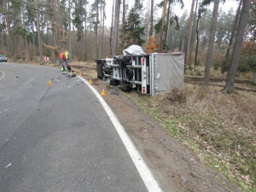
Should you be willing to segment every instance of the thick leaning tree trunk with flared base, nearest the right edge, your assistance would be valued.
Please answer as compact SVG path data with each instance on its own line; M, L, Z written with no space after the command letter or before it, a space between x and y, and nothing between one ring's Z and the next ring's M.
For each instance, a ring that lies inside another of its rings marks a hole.
M241 44L242 44L243 36L247 27L250 4L251 4L250 0L243 0L242 8L241 8L241 16L240 16L240 20L237 27L236 41L234 44L234 50L231 58L229 76L223 90L223 92L225 93L235 92L234 83L236 79L236 70L240 60Z

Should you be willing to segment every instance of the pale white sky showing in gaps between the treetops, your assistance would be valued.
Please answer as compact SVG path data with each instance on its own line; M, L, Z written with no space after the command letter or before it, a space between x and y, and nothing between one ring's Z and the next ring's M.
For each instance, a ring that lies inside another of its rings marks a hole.
M147 8L147 3L149 1L149 6L150 6L150 2L151 0L143 0L143 7L146 9ZM162 0L154 0L154 4L158 4L160 3ZM198 0L199 2L201 0ZM92 2L92 0L90 0L90 2ZM129 5L129 9L131 8L131 6L134 4L135 0L126 0L125 2L128 3ZM191 9L191 3L192 0L183 0L184 3L184 8L180 9L180 4L177 3L176 6L174 6L173 11L178 15L181 16L183 15L183 12L185 10L188 11L188 13L190 13L190 9ZM106 1L106 26L111 26L111 16L112 16L112 6L113 6L113 0L108 0ZM226 0L226 2L223 3L219 3L219 8L222 8L225 11L228 11L229 9L233 8L234 10L236 10L238 7L238 3L236 2L236 0ZM211 3L211 5L208 7L209 9L213 9L213 3ZM121 5L121 9L122 9L122 5ZM162 14L162 10L159 9L157 12L157 15L160 17Z

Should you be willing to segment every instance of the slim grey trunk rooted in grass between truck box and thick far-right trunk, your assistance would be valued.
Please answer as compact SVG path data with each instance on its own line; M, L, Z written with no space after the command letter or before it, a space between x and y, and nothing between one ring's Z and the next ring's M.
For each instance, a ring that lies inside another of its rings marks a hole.
M217 16L218 16L218 4L219 4L219 0L215 0L213 11L212 11L212 26L211 26L211 31L210 31L209 46L208 46L208 51L207 51L207 63L206 63L206 68L205 68L205 80L204 80L204 88L205 89L208 89L209 79L210 79L214 38L215 38Z

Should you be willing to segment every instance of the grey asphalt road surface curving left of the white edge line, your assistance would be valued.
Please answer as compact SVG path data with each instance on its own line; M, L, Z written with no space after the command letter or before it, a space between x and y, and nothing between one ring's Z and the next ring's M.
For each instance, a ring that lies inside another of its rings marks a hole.
M84 82L0 63L0 191L147 189Z

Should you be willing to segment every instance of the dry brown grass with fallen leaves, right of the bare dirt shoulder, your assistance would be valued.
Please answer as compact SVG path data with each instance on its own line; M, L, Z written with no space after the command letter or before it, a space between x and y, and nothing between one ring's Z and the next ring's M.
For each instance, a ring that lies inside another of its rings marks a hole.
M201 160L220 169L241 189L256 186L256 103L252 97L201 90L185 84L172 94L127 94L160 120L173 136L195 149ZM189 144L188 144L189 143ZM196 146L196 147L195 147Z

